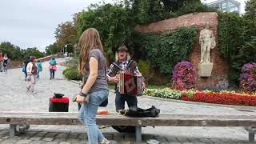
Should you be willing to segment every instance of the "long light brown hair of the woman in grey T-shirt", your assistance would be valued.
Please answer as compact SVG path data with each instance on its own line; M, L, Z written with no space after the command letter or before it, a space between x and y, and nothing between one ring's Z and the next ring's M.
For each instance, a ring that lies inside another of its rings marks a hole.
M102 42L98 30L94 28L85 30L79 39L78 45L80 46L78 72L79 74L84 74L90 50L98 49L101 50L103 54Z

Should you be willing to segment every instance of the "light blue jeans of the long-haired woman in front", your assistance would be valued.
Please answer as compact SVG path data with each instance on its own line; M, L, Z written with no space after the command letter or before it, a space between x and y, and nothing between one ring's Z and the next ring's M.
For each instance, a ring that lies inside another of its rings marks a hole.
M100 90L90 93L89 102L82 103L79 110L78 119L86 126L88 140L90 144L97 144L101 142L104 138L102 132L98 130L96 125L96 114L98 106L105 101L108 97L108 90Z

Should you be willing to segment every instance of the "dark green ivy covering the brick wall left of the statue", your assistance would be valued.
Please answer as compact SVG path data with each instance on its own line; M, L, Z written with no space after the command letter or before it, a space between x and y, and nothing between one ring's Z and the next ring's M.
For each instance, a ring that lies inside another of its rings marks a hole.
M177 62L188 60L196 34L195 27L181 27L162 35L134 32L127 45L134 48L131 51L136 59L147 59L152 68L170 76Z

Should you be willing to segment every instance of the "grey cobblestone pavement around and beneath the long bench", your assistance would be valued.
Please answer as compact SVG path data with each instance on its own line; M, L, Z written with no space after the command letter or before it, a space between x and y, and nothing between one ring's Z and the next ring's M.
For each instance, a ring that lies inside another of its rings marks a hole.
M57 59L57 62L63 61L63 58ZM21 69L9 70L8 74L0 73L0 111L46 112L49 109L49 98L54 93L65 94L70 99L78 93L78 84L63 78L64 66L58 66L54 80L50 80L47 62L43 62L42 67L43 71L35 86L37 94L26 92L27 82L24 81ZM151 105L158 107L161 113L249 113L235 107L169 102L162 98L138 98L138 106L148 108ZM70 112L78 110L74 102L70 101L69 107ZM105 109L114 112L114 93L111 91L109 105ZM255 109L251 110L255 112ZM133 135L119 134L109 126L101 127L101 130L111 143L134 143ZM26 134L9 138L9 126L0 125L0 143L86 143L85 131L83 126L30 126ZM146 143L149 139L156 139L161 143L250 143L248 133L242 127L143 127L142 140Z

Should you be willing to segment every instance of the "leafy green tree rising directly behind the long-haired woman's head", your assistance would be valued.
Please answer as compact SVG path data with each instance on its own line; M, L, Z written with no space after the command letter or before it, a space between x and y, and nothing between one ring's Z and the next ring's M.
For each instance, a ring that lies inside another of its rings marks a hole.
M89 10L78 16L76 29L78 36L90 27L98 30L104 50L109 58L121 46L134 29L133 17L129 10L118 4L91 5Z

